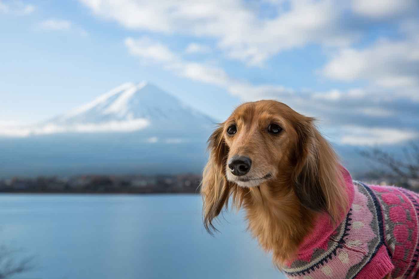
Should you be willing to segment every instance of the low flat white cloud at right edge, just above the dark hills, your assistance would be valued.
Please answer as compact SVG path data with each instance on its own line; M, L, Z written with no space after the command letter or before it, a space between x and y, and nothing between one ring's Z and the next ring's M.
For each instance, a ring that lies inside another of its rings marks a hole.
M391 145L419 137L415 131L390 128L345 126L343 131L340 142L347 145Z

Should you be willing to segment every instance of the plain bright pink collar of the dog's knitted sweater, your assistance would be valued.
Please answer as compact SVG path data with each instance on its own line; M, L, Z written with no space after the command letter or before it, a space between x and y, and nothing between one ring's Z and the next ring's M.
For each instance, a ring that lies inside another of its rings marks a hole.
M352 184L352 178L346 168L341 167L342 174L344 177L345 189L348 194L349 207L354 200L354 185ZM328 240L331 235L335 232L336 228L345 220L349 208L342 212L340 220L337 220L336 224L331 223L330 217L326 213L318 214L316 220L314 220L314 227L311 233L303 238L303 241L298 249L297 258L310 261L315 248L327 249ZM291 262L289 263L291 264Z

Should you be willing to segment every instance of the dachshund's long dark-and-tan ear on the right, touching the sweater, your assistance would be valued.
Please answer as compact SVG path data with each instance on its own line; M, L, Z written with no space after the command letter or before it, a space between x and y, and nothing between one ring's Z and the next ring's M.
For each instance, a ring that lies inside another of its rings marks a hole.
M305 117L297 123L297 146L293 173L294 190L304 207L327 212L332 221L341 218L349 207L339 158L314 126L315 119Z

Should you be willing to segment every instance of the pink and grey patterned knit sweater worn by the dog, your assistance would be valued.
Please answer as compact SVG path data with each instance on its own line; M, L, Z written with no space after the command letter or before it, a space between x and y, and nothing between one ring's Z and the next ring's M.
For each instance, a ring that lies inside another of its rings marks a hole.
M297 258L284 268L289 278L419 278L418 194L392 186L352 181L344 169L351 208L332 226L323 214Z

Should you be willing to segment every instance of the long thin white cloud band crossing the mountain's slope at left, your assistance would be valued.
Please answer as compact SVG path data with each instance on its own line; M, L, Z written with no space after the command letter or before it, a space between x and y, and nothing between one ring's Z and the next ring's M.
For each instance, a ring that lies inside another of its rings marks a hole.
M108 121L103 123L83 123L72 125L46 124L38 127L3 127L0 136L28 137L57 133L97 133L97 132L134 132L150 125L147 119L130 119L123 121Z

